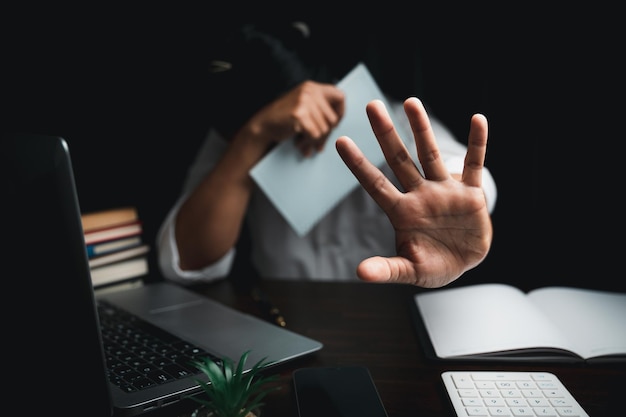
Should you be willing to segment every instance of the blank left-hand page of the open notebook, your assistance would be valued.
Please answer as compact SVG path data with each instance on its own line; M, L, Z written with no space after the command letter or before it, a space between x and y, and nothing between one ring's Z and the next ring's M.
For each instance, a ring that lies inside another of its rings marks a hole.
M444 288L416 294L415 302L440 358L536 347L571 350L544 313L510 285Z

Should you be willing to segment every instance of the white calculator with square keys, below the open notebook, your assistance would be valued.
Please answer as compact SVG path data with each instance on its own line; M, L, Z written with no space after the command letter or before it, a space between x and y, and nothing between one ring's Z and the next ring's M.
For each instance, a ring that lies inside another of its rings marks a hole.
M446 371L441 378L458 417L589 417L549 372Z

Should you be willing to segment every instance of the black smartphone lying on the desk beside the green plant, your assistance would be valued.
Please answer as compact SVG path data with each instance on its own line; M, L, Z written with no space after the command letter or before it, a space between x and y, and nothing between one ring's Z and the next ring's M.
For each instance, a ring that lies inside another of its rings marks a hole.
M364 366L300 368L293 383L299 417L388 417Z

